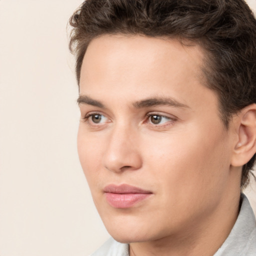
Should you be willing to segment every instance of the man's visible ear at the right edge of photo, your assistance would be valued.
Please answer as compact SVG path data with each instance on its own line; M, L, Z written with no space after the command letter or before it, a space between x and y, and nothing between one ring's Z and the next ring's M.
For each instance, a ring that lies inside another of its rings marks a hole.
M238 140L233 148L231 165L242 166L256 152L256 104L244 107L235 122Z

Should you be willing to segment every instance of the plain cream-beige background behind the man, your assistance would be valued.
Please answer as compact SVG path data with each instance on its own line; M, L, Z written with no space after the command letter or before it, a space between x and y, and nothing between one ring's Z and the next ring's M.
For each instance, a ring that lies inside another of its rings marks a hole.
M76 153L66 23L81 2L0 0L1 256L84 256L108 237Z

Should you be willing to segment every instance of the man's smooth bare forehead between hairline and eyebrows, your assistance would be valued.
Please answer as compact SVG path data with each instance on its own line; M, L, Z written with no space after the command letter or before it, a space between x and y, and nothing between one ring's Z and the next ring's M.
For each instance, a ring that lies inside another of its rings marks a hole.
M199 45L177 39L102 35L90 42L84 55L80 94L101 102L168 95L186 105L197 104L205 90L213 94L203 85L203 57Z

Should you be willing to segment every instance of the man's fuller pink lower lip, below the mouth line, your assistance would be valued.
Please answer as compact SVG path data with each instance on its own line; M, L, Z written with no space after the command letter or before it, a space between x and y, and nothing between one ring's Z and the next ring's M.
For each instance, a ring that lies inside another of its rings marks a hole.
M114 208L129 208L149 197L151 193L105 193L107 202Z

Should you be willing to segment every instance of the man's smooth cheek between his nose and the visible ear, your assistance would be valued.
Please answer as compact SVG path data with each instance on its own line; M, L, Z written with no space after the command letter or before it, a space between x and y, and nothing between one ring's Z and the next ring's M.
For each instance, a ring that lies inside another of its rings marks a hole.
M165 134L164 139L155 138L153 146L150 141L146 142L142 148L146 155L144 161L153 179L164 181L168 189L176 191L180 185L188 190L200 190L209 189L208 183L214 186L220 182L226 175L221 170L229 167L228 150L224 147L227 142L216 130L209 135L212 131L189 128Z

